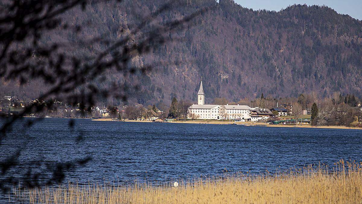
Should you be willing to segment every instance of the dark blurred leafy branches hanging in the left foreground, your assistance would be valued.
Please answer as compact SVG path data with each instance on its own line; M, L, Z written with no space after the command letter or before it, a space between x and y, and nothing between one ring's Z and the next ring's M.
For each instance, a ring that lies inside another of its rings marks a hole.
M81 110L90 111L97 103L99 96L113 97L127 100L129 89L137 90L137 86L113 83L109 87L97 86L106 80L106 72L122 74L124 78L136 73L144 74L151 70L151 65L134 66L131 61L137 56L147 54L151 48L167 42L166 33L180 29L195 16L207 9L185 16L182 19L155 24L155 17L171 9L181 6L182 3L168 2L147 16L138 26L125 32L121 29L121 37L111 41L102 36L85 39L84 46L93 46L99 43L106 44L107 48L100 50L94 56L75 56L67 52L72 45L63 42L42 43L43 33L49 30L71 30L79 34L82 27L69 25L64 16L71 9L85 10L89 3L106 3L108 1L87 0L13 0L4 1L0 5L0 77L5 81L18 81L26 85L31 80L40 80L47 87L30 106L25 107L18 115L3 117L1 126L0 145L9 132L13 131L13 124L29 113L39 113L53 107L56 101L71 105L78 105ZM177 4L177 5L176 5ZM147 29L145 29L147 26ZM28 128L35 121L26 123ZM73 125L71 121L70 126ZM9 175L12 168L28 169L23 181L28 187L62 182L65 172L84 165L91 158L85 157L76 161L47 164L47 172L32 173L30 165L20 164L17 158L21 149L10 158L1 159L0 187L7 190L10 184L17 184L16 175ZM81 155L79 155L81 156ZM25 167L24 167L25 166ZM46 175L51 173L51 178ZM19 173L20 174L20 173ZM47 178L47 179L44 179ZM43 180L42 180L43 179Z

